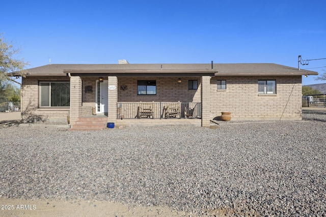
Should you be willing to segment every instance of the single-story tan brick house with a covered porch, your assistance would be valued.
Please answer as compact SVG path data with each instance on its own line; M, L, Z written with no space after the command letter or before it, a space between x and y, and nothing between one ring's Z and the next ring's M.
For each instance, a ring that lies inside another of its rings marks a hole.
M231 112L234 120L299 120L302 75L277 64L52 64L22 78L23 119L104 117L116 125L209 126ZM152 113L141 116L145 102ZM178 105L177 115L167 108ZM96 113L96 115L92 115Z

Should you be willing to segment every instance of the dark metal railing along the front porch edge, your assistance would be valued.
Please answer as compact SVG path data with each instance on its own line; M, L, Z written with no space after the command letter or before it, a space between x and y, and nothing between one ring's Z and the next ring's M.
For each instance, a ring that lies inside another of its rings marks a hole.
M145 107L142 113L142 107ZM201 118L201 103L137 102L117 103L117 118Z

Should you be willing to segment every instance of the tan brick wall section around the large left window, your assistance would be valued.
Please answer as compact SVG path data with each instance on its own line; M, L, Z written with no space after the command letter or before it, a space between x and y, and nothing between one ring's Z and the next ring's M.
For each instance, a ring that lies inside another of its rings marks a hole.
M40 81L69 81L69 78L26 77L22 79L22 118L30 121L66 121L67 108L39 108Z

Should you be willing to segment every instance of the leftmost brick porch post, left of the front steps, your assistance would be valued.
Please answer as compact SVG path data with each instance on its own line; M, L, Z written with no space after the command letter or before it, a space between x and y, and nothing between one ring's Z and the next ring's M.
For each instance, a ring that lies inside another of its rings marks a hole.
M73 126L78 117L82 115L82 78L70 78L70 126Z

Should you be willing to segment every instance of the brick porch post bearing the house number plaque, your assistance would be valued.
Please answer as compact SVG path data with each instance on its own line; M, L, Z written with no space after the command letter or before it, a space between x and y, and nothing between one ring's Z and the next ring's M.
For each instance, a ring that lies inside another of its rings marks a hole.
M117 120L118 103L118 78L117 76L107 77L107 121L115 122Z

